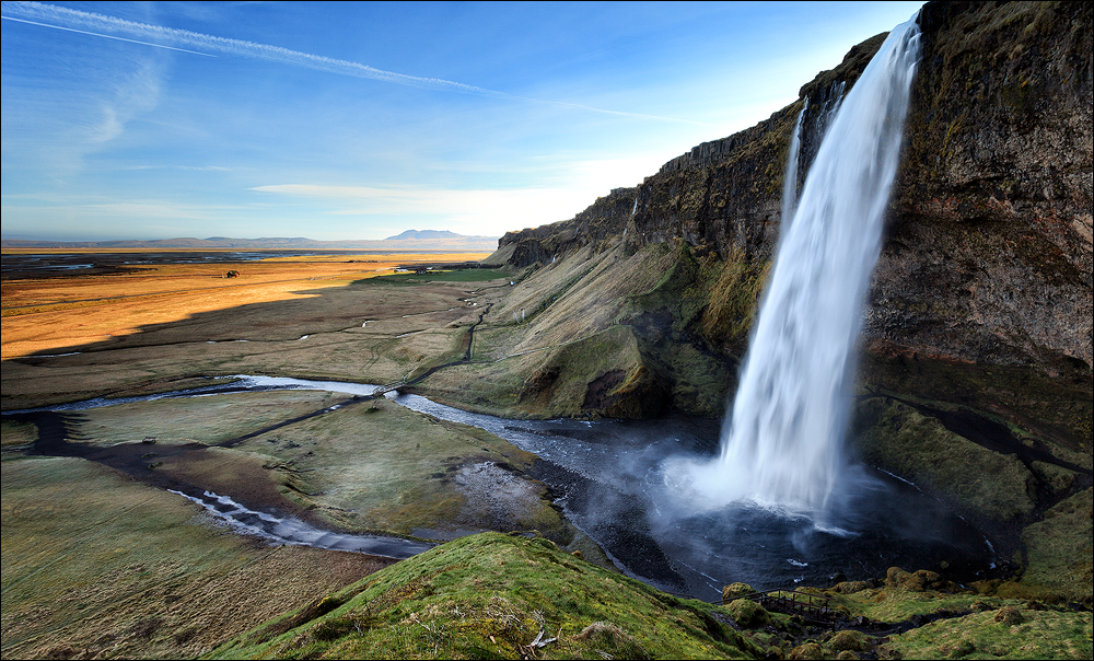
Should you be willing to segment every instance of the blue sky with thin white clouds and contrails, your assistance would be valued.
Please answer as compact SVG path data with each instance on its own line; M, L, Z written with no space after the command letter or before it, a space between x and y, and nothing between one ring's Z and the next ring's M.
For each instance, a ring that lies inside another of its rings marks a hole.
M2 236L500 236L921 4L3 2Z

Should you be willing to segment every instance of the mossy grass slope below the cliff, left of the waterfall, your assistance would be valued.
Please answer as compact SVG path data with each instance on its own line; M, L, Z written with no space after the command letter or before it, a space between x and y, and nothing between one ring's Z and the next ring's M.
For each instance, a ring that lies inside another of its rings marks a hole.
M491 292L473 362L416 387L507 417L720 415L765 274L684 242L584 246Z

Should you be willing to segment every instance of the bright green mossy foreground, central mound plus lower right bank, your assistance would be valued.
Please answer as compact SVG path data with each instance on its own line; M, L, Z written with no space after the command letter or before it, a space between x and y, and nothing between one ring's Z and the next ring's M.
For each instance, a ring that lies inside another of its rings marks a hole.
M862 581L824 592L806 589L830 596L847 616L880 623L833 631L747 600L718 606L678 599L562 553L543 537L482 533L382 569L206 658L1091 657L1090 612L924 589L916 579L931 572L889 575L874 589Z

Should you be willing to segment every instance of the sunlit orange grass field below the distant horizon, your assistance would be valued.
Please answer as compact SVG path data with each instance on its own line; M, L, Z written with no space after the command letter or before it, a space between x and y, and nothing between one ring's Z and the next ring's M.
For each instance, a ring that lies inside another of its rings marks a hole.
M108 251L35 248L3 252L104 254ZM163 251L119 251L123 252ZM4 280L0 290L3 300L0 358L19 358L130 335L138 333L141 326L179 321L202 312L309 298L312 295L309 290L342 287L354 280L389 274L400 264L470 262L487 255L346 253L240 263L146 264L128 267L131 272L124 274ZM225 277L229 270L240 271L240 277Z

